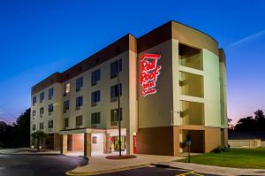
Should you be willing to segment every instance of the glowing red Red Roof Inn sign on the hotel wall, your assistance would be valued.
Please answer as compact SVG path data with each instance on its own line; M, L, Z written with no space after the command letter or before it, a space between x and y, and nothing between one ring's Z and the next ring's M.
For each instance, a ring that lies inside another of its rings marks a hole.
M148 96L156 93L156 80L160 74L161 65L157 65L161 55L144 54L140 57L140 85L142 87L141 95Z

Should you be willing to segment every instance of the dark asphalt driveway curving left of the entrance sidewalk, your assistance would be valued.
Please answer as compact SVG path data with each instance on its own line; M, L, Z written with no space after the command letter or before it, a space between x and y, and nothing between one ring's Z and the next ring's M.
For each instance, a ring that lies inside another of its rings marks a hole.
M76 166L86 164L85 157L0 155L0 176L63 176Z

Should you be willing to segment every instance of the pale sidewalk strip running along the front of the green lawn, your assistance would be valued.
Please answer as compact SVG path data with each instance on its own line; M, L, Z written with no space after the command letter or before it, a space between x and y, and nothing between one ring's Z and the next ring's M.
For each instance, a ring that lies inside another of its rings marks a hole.
M181 162L160 162L162 165L170 165L171 167L182 168L194 172L202 172L217 175L265 175L262 169L242 169L232 167L219 167L213 165L197 165Z

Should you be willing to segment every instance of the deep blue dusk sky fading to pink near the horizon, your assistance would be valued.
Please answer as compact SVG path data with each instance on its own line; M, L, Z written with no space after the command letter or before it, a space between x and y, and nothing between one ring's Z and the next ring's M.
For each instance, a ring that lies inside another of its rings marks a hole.
M0 119L12 122L30 107L31 87L50 74L170 19L224 49L234 123L265 111L265 1L0 0Z

